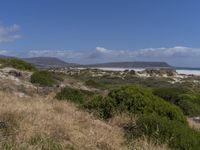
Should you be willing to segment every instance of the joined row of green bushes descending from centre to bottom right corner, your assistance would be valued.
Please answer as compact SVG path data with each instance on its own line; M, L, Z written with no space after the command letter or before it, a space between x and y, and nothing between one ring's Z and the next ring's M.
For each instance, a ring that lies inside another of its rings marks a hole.
M69 93L74 96L69 96ZM154 96L148 89L125 86L111 90L104 98L92 95L92 98L83 101L84 95L87 94L65 88L56 97L70 100L105 120L122 113L130 118L137 116L134 121L123 125L128 141L145 135L159 143L168 144L172 149L198 150L200 147L200 132L189 127L181 109ZM189 139L185 139L186 135Z

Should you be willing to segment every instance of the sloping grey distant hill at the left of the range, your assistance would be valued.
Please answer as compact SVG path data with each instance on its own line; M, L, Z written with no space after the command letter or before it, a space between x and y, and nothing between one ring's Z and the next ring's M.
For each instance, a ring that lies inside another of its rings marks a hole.
M23 58L23 60L35 65L38 68L62 68L76 66L76 64L66 63L56 57L32 57Z

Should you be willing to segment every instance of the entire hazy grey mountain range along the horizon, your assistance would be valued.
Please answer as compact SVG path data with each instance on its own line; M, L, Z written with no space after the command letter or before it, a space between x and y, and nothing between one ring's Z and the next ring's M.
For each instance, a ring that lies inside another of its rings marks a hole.
M0 58L9 58L9 56L0 55ZM99 64L76 64L67 63L56 57L32 57L21 58L24 61L33 64L38 68L63 68L63 67L107 67L107 68L171 68L166 62L145 62L145 61L132 61L132 62L108 62Z

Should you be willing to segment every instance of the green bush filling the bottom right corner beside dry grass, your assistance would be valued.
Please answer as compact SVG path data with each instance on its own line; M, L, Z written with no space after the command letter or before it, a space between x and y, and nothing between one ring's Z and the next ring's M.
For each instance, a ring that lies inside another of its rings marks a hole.
M128 124L125 131L128 139L145 135L160 143L167 143L172 149L199 150L200 148L199 131L155 114L141 116L136 123Z

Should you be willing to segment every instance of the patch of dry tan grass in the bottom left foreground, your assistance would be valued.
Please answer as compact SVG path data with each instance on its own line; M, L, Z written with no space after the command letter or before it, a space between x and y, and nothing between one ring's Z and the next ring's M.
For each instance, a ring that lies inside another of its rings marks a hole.
M122 146L123 131L119 127L96 120L73 104L51 97L19 98L0 92L0 121L15 126L14 140L1 142L1 146L14 149L42 149L49 145L58 149L125 149ZM7 116L9 121L5 119Z

